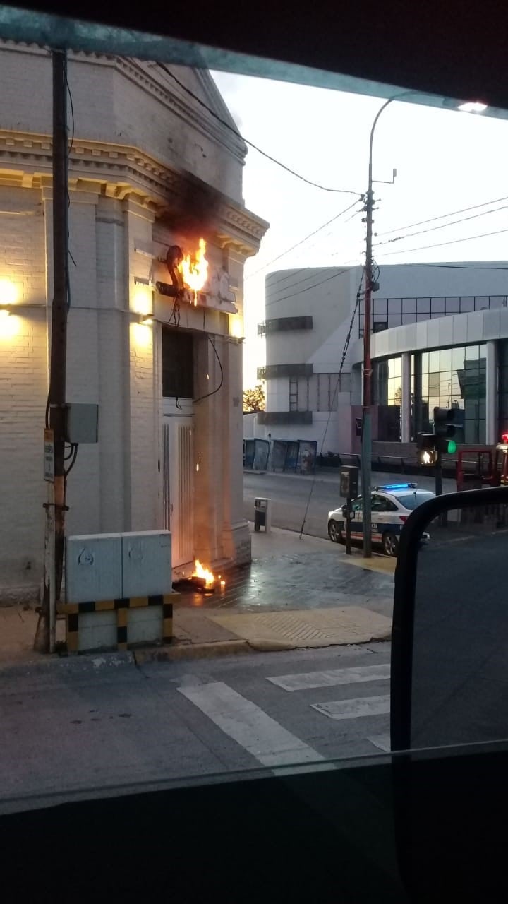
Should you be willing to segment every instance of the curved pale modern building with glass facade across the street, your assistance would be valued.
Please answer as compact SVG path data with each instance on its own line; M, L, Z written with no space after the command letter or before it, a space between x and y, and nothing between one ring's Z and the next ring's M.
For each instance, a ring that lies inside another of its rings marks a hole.
M267 364L258 376L266 380L267 410L258 415L258 436L314 439L324 453L359 449L361 278L361 267L268 275L258 329L266 336ZM435 406L462 412L459 442L494 444L508 428L508 262L381 266L378 284L374 454L400 454L402 444L414 449Z

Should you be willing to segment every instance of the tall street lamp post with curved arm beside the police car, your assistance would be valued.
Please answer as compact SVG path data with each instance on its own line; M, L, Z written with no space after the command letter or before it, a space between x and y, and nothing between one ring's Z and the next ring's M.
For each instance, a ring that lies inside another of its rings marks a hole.
M372 360L371 360L371 321L372 321L372 141L374 131L381 113L392 100L403 97L409 91L403 91L387 100L378 110L372 123L369 142L369 187L365 198L366 247L365 247L365 306L363 317L363 405L362 405L362 515L363 515L363 556L372 556L372 509L371 509L371 475L372 475Z

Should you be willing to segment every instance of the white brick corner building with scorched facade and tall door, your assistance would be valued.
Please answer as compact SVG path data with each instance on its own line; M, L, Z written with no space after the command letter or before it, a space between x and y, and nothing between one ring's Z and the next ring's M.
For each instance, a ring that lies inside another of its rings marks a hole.
M207 71L174 72L229 118ZM33 596L42 577L50 56L0 44L0 77L0 306L11 305L10 315L0 311L0 599L8 601ZM68 532L171 526L176 567L194 556L246 560L242 279L268 226L243 205L246 148L154 63L71 54L69 85L67 397L99 404L99 443L80 446ZM157 259L172 244L195 250L200 236L209 280L197 306L182 303L178 323L173 299L146 282L170 282ZM153 322L140 323L148 313Z

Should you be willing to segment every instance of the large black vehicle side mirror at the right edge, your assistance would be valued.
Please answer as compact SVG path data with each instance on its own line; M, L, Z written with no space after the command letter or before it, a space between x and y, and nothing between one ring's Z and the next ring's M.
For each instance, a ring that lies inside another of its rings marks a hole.
M508 487L420 505L400 535L391 749L508 738Z

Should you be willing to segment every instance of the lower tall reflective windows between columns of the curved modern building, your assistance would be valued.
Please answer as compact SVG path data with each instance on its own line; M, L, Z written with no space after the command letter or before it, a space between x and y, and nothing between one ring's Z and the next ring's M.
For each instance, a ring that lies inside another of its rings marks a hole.
M508 427L508 343L500 352L500 422ZM475 445L485 442L485 345L463 345L411 355L411 438L419 431L432 432L434 408L456 408L456 441ZM392 441L397 407L401 400L400 356L373 365L373 400L380 411L378 438ZM400 423L400 412L399 412ZM400 429L399 436L400 439Z

